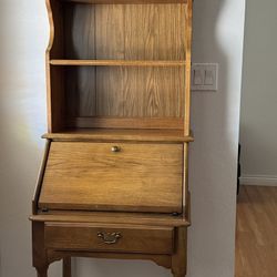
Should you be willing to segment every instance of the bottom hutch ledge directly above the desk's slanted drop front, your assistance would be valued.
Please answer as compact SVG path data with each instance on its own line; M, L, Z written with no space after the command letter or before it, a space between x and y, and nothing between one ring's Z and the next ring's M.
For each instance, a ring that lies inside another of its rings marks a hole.
M123 130L123 129L68 129L59 133L47 133L43 138L53 141L144 141L144 142L193 142L183 130Z

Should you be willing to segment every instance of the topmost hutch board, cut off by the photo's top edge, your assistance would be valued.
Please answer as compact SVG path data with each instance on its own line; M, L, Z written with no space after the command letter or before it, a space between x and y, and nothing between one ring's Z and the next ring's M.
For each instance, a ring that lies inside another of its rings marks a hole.
M61 0L76 3L187 3L187 0Z

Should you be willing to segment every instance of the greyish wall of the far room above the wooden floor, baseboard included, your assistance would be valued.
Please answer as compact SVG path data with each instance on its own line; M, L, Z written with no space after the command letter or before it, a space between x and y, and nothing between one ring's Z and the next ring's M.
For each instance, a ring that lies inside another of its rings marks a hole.
M277 1L246 7L242 90L243 183L277 185Z

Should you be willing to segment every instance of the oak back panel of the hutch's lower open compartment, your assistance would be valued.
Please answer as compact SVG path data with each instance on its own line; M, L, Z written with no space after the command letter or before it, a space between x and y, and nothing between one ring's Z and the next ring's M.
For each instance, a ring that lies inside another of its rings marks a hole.
M182 68L100 66L94 73L91 66L66 66L65 72L66 113L73 119L68 126L73 127L76 125L74 119L80 122L81 117L80 127L98 127L93 125L95 121L88 125L83 122L88 122L89 116L110 116L114 121L103 127L114 127L119 117L136 117L142 122L136 127L144 129L144 122L160 117L160 124L153 124L156 129L168 127L166 122L174 119L182 124L171 129L183 129L182 79L185 70ZM125 125L134 127L132 122Z

